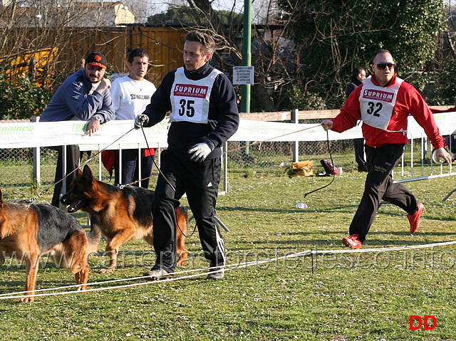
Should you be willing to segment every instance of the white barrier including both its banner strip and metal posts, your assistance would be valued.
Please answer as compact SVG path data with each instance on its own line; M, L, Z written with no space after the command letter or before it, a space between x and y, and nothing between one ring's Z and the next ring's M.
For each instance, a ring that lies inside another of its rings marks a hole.
M456 112L435 114L435 121L442 135L452 135L456 130ZM64 121L64 122L11 122L0 124L0 148L36 148L33 153L34 176L40 178L39 148L56 145L79 145L81 150L100 151L108 149L136 149L147 147L141 130L133 129L133 120L115 120L107 122L100 130L91 137L86 133L87 122ZM168 122L162 121L154 127L145 128L147 143L151 148L160 149L167 147ZM436 177L455 175L452 165L435 164L430 162L430 172L425 172L425 158L428 153L429 142L425 132L409 117L408 132L410 144L410 156L403 156L400 164L400 172L396 169L395 177L398 182L410 182ZM120 138L121 137L121 138ZM351 140L362 137L361 127L356 126L343 133L329 132L330 140ZM264 122L254 120L241 120L239 130L230 138L230 141L325 141L326 132L315 124L298 124L297 122ZM415 141L420 140L420 169L415 166ZM115 143L113 143L115 141ZM226 149L226 145L224 146ZM432 149L432 147L431 147ZM295 153L297 149L294 149ZM227 175L227 154L224 154L224 174ZM405 157L410 162L407 166ZM296 155L294 159L299 159ZM157 162L160 163L160 153L157 154ZM102 163L99 157L99 174ZM399 174L399 176L398 176ZM227 191L227 176L224 177L224 191Z

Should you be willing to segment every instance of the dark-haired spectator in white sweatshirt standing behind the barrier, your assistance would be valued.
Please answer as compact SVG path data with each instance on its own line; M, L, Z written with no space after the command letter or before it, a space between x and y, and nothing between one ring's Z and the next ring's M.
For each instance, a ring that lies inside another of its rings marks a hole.
M135 48L128 53L130 73L125 77L116 78L110 88L115 120L134 120L150 103L155 93L155 85L145 80L149 55L142 48ZM155 150L141 150L141 169L139 169L138 149L123 149L122 151L122 180L119 179L119 152L115 151L115 184L130 184L141 180L141 187L149 187L149 177L152 170L152 157ZM139 172L141 171L141 172Z

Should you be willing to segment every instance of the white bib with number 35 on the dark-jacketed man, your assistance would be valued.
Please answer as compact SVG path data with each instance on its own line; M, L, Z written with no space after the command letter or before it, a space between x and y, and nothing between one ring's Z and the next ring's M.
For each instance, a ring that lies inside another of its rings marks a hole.
M207 123L212 85L221 71L214 69L206 78L190 80L178 68L171 88L170 122Z

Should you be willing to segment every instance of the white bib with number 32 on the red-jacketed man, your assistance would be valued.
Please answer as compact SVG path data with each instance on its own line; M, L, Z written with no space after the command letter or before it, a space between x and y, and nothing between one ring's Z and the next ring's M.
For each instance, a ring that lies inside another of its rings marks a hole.
M388 130L388 124L393 115L393 109L398 97L398 90L403 80L396 77L396 81L388 88L382 88L368 77L363 82L363 89L359 96L361 120L381 130Z

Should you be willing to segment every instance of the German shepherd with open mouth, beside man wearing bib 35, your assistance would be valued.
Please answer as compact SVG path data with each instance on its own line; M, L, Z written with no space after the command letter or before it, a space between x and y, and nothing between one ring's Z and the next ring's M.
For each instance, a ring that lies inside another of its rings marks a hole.
M153 246L152 199L154 192L142 187L126 186L123 189L93 177L88 165L76 171L76 178L71 182L68 192L61 197L68 212L78 209L95 215L100 221L101 233L106 237L106 253L110 263L101 273L115 270L117 253L126 241L144 239ZM187 234L187 209L177 207L177 266L187 259L185 234Z

